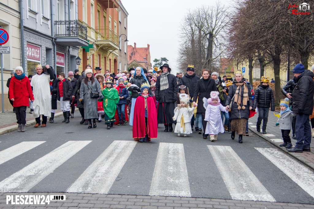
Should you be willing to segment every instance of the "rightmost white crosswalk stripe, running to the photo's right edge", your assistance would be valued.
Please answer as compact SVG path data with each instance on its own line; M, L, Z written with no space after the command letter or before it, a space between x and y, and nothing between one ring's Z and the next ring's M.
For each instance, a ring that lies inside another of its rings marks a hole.
M276 165L282 172L290 177L309 195L314 197L314 172L305 165L299 163L294 158L273 148L258 148L258 152L262 153L268 160Z

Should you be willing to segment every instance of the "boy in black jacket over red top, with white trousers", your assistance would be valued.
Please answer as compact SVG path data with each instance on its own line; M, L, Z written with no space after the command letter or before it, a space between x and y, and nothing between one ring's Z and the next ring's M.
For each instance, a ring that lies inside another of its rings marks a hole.
M64 120L62 122L69 123L70 100L72 100L73 88L71 81L65 79L65 74L63 72L59 73L58 78L57 99L60 101L60 107L63 112Z

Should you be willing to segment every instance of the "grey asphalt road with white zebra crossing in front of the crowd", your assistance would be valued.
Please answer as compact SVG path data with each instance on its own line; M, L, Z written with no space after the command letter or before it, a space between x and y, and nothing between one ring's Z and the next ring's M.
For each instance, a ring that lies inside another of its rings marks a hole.
M250 133L134 142L132 126L106 130L56 118L45 128L0 136L0 192L186 196L314 204L314 172ZM174 128L174 127L173 127ZM208 137L209 138L209 137ZM22 144L20 144L22 143Z

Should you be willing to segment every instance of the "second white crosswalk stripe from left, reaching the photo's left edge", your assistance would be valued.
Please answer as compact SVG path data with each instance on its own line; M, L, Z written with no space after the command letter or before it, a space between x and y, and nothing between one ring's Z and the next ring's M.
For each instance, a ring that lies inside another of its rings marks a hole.
M68 141L0 182L0 192L27 192L91 141Z

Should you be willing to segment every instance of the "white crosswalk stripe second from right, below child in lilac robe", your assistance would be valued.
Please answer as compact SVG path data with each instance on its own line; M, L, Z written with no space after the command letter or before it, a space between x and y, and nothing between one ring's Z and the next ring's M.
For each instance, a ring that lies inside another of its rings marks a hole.
M230 146L207 145L232 199L275 202Z

